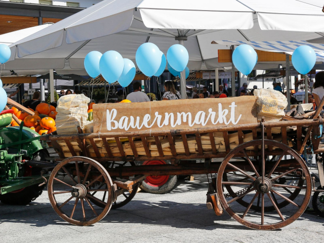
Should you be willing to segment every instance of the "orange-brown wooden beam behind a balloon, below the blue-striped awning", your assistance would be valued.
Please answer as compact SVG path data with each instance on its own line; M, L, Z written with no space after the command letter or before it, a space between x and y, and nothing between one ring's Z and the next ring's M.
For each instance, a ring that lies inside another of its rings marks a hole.
M286 61L286 54L278 52L265 52L255 50L258 54L258 62ZM292 60L292 57L289 57ZM231 50L218 50L218 62L232 62Z

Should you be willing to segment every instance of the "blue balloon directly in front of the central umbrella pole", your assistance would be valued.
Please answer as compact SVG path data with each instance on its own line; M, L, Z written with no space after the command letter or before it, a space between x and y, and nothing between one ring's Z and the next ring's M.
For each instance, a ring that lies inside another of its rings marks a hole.
M189 53L187 49L179 44L173 45L167 52L167 59L170 66L178 72L183 71L189 61Z

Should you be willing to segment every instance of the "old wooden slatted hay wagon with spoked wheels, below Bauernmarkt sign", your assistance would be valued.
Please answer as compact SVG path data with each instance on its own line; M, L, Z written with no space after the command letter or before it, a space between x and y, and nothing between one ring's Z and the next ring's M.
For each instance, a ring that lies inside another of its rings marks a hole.
M217 215L224 209L247 227L278 229L309 204L312 180L300 154L324 151L319 112L244 125L42 136L61 160L48 181L49 198L63 220L91 225L129 203L147 176L206 174L207 207ZM171 163L136 165L152 159Z

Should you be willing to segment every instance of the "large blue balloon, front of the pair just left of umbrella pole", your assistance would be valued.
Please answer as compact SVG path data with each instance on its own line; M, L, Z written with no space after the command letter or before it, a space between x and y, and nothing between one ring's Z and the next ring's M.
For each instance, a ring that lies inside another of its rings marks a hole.
M148 77L153 76L161 65L160 50L153 43L144 43L136 51L136 64Z

